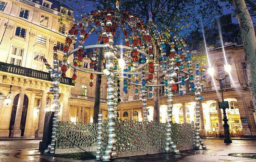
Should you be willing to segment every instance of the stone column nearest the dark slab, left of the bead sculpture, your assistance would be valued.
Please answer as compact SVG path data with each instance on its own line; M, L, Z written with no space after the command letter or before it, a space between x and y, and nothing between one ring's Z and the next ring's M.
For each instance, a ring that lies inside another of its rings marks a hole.
M35 133L35 137L43 137L43 125L44 125L44 108L46 106L47 92L42 92L41 106L39 110L38 128Z

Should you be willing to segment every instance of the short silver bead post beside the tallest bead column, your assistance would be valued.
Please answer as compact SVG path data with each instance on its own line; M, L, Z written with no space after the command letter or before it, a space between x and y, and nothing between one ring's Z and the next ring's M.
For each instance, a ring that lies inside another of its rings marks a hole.
M97 151L96 160L101 160L101 150L102 150L102 114L98 114L98 137L97 137Z

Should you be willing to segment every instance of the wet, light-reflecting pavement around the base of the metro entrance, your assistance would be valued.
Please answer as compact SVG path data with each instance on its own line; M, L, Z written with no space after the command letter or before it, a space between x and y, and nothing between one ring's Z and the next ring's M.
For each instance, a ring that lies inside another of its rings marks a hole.
M21 141L0 141L0 162L47 162L47 161L79 161L73 159L56 158L44 156L38 150L40 140L21 140ZM224 144L223 140L204 139L207 150L187 150L181 151L180 155L170 154L151 154L142 156L133 156L117 158L115 162L167 162L167 161L185 161L185 162L233 162L233 161L256 161L255 140L233 140L232 144ZM242 154L241 154L242 153ZM245 154L254 153L254 154ZM230 156L229 156L230 155ZM89 160L92 162L95 160Z

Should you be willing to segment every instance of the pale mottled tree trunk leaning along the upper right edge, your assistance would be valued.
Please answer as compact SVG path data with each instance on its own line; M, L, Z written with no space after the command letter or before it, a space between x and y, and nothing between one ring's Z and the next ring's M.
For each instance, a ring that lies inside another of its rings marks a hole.
M245 63L247 66L248 86L252 103L256 110L256 36L250 13L245 0L233 0L236 17L239 21L240 35L244 44ZM255 3L254 3L255 6ZM255 12L255 8L254 8Z

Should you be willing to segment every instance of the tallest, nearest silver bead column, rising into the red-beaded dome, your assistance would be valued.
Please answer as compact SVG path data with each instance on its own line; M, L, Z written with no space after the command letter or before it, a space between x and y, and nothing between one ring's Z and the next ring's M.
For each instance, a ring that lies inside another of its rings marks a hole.
M111 16L108 14L108 16ZM104 25L104 24L103 24ZM111 20L107 20L107 26L111 26ZM108 37L108 42L104 44L104 58L106 59L106 69L109 72L107 74L107 106L108 106L108 146L103 156L103 161L110 161L110 158L116 158L116 133L115 133L115 119L114 115L114 58L115 54L113 52L113 37L111 32L102 32L102 36Z

